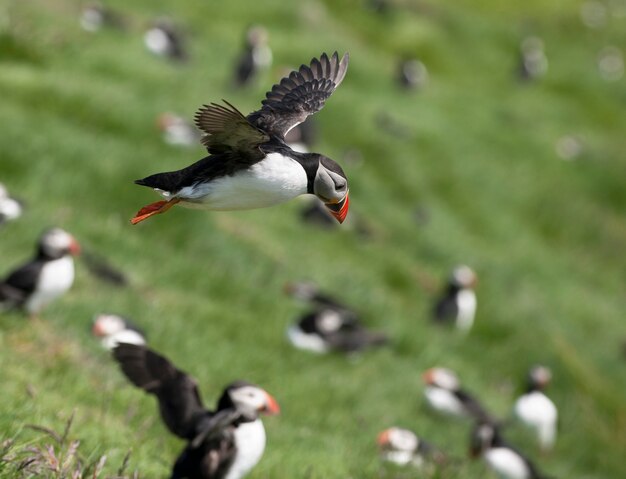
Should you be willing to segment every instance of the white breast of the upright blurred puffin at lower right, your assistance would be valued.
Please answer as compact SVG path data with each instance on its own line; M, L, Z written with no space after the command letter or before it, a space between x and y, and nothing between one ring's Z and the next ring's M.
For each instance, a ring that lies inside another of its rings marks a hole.
M550 449L556 437L558 412L554 403L540 391L524 394L515 402L515 415L535 430L542 449Z

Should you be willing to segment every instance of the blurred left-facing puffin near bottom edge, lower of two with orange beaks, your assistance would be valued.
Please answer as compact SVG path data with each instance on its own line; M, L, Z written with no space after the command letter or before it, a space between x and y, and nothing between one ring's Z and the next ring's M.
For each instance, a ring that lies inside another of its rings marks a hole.
M441 465L446 461L445 454L408 429L385 429L378 435L377 442L381 458L399 466L423 468L428 464Z

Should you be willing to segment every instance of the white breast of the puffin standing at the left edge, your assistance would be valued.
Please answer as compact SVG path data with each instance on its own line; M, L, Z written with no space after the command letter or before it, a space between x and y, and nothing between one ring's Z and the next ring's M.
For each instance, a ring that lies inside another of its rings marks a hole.
M35 291L24 307L30 314L39 313L48 303L65 293L74 282L74 260L64 256L47 262L41 269Z

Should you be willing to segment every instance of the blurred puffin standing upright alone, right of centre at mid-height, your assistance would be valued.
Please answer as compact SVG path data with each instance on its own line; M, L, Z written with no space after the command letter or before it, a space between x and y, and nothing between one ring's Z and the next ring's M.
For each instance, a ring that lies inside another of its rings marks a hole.
M465 265L452 271L443 295L437 300L433 318L438 323L453 323L460 331L468 332L476 314L476 273Z

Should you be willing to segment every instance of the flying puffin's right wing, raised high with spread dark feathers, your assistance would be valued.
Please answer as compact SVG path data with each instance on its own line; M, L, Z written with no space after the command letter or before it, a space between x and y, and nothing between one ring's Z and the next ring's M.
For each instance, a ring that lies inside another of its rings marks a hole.
M311 65L302 65L267 92L260 110L248 115L250 123L270 135L281 138L309 115L322 109L324 103L342 82L348 69L349 55L341 61L337 52L328 58L322 53Z

